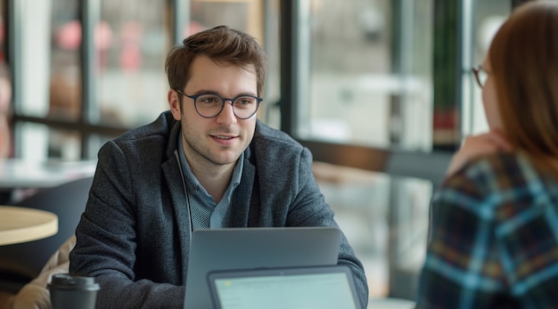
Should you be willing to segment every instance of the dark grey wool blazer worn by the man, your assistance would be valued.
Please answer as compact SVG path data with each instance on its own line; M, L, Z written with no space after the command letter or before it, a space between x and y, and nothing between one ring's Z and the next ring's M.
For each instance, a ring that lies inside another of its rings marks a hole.
M175 151L180 123L169 111L99 150L70 272L93 275L99 308L184 303L190 221ZM337 226L312 174L312 155L290 136L257 122L234 195L234 227ZM363 304L363 265L342 237L339 263L355 274Z

